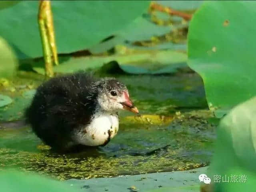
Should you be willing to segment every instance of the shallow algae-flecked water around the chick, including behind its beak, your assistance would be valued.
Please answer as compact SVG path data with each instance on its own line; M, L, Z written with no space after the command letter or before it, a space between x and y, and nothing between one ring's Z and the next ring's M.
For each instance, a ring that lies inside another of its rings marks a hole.
M208 121L213 116L198 75L118 78L128 86L140 116L120 114L120 130L108 145L82 153L52 153L30 127L9 123L0 129L0 167L66 180L208 165L216 125Z

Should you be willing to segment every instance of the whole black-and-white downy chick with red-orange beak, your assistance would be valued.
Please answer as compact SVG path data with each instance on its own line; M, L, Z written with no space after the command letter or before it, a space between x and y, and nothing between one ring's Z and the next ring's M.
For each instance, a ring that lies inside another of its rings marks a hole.
M46 145L65 151L106 145L118 132L119 110L138 113L124 84L76 72L40 85L25 117Z

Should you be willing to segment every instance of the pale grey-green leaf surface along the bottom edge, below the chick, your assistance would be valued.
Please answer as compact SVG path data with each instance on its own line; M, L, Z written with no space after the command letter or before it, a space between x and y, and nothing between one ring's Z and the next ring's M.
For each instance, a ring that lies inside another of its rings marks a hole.
M66 182L72 185L74 189L89 192L198 192L200 191L198 175L206 172L207 168L132 176L123 175L114 178L70 179Z

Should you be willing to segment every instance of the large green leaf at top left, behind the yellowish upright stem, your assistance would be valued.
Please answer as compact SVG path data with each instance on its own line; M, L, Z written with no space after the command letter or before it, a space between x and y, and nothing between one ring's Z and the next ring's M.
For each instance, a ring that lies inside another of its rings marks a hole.
M82 50L98 43L140 16L149 3L52 1L58 53ZM0 35L29 57L42 56L37 14L38 1L22 1L0 10Z

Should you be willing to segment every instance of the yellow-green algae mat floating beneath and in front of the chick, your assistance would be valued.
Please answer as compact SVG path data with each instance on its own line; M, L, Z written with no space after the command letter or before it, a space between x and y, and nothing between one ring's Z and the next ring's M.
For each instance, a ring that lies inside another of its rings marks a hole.
M215 138L215 126L206 120L209 117L209 111L177 113L172 122L162 125L134 124L123 118L118 135L106 147L76 154L52 153L28 127L2 129L0 167L35 171L59 180L202 167L210 160Z

